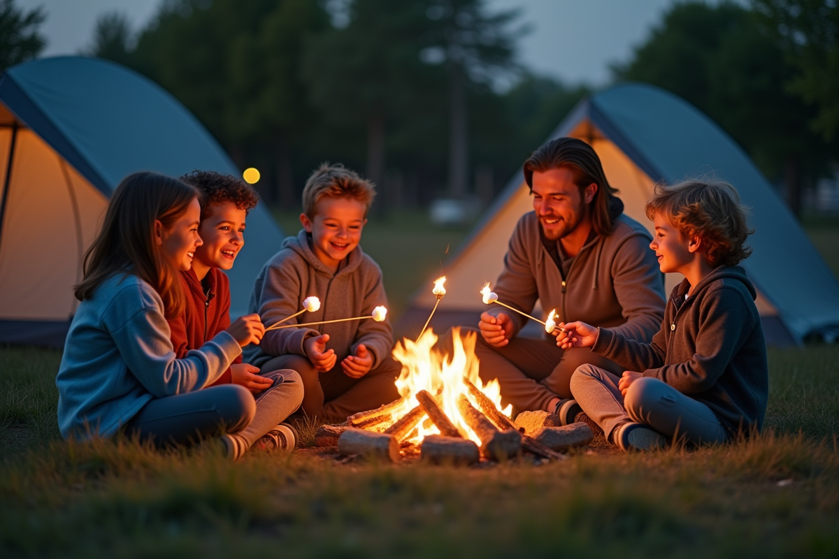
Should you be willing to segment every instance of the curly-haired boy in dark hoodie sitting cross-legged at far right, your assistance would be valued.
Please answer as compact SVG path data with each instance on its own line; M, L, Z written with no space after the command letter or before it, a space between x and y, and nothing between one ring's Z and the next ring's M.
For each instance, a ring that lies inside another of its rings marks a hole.
M751 253L737 191L696 180L659 186L646 212L661 271L685 280L670 294L651 344L586 323L560 324L557 345L591 347L627 369L618 378L582 365L571 376L571 393L624 450L674 439L724 443L759 431L769 370L756 292L737 266Z

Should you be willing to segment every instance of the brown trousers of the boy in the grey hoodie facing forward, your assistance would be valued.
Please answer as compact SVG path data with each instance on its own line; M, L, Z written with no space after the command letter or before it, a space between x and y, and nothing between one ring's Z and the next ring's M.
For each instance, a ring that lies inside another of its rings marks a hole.
M395 382L402 365L390 355L360 379L345 375L340 362L320 373L302 355L280 355L262 366L263 371L280 368L300 373L304 386L300 409L308 417L342 422L353 413L373 410L399 398Z

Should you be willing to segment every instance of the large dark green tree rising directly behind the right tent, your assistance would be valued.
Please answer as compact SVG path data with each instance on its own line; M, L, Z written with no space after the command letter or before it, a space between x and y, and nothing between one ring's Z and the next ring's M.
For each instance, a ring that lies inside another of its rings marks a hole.
M673 91L720 124L769 179L815 177L831 147L807 126L814 111L784 88L795 70L748 9L735 3L676 4L633 59L616 67L619 80ZM794 194L795 195L795 194ZM795 210L798 199L791 200Z

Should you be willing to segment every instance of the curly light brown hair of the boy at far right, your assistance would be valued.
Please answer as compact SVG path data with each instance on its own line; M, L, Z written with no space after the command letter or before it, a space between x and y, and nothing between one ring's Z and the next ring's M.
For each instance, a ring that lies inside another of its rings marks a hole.
M748 208L731 184L700 179L656 184L644 210L650 220L662 212L682 235L699 237L711 267L736 266L752 254L745 244L754 232L748 227Z

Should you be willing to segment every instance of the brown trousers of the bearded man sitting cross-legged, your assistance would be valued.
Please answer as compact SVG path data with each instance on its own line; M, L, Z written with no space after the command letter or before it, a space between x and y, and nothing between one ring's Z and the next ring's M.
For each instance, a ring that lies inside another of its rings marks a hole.
M477 329L475 355L478 373L486 384L498 379L503 406L513 404L519 411L544 410L552 398L570 398L569 382L577 367L591 363L620 375L623 369L589 349L563 350L553 339L513 338L503 348L493 348ZM438 343L451 344L451 330Z

